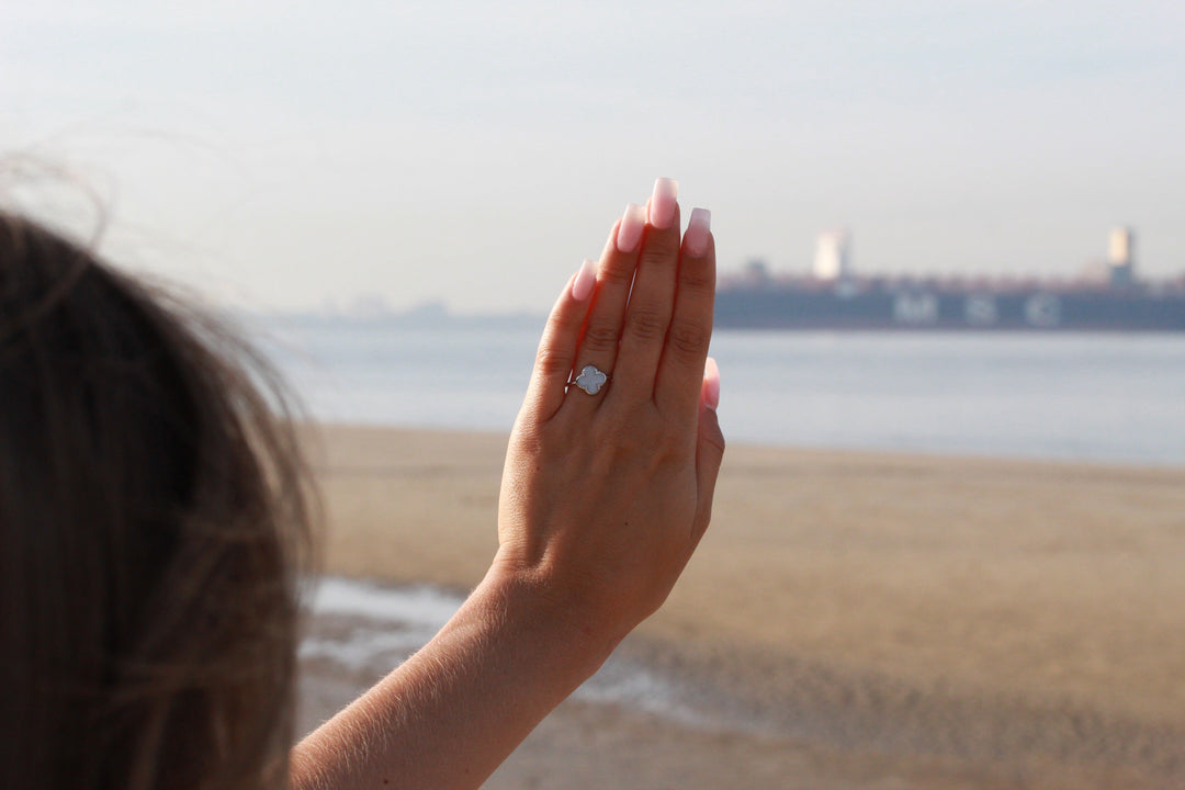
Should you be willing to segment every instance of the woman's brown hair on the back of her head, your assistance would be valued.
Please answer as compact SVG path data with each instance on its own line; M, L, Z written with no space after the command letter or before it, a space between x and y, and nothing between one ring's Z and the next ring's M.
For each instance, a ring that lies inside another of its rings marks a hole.
M283 785L310 544L276 381L0 213L0 786Z

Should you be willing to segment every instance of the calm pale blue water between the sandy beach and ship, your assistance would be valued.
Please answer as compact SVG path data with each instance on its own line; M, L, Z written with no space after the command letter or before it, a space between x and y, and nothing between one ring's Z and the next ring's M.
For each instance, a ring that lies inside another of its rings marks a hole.
M268 320L316 417L507 430L539 321ZM731 441L1185 465L1183 335L718 332Z

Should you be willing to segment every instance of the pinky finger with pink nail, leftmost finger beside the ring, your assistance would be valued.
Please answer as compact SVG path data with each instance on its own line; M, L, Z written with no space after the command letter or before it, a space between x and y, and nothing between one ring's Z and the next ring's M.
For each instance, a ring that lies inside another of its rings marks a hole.
M596 264L585 258L551 308L534 355L534 371L523 409L533 410L540 420L550 419L564 403L564 392L576 362L576 346L594 290Z

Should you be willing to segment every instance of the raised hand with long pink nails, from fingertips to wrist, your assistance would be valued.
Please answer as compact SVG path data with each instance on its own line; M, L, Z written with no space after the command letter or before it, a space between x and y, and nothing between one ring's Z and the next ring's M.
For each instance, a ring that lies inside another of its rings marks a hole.
M495 570L608 650L691 558L724 452L715 240L696 210L680 243L674 191L627 206L595 281L585 262L561 295L502 474ZM566 386L585 365L610 377L596 394Z

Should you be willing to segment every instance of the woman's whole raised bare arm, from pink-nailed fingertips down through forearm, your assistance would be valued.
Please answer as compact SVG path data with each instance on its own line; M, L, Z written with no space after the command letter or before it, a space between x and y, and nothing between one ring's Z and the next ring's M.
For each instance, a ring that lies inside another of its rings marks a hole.
M294 790L478 788L671 591L724 452L707 360L716 251L674 182L630 206L544 330L489 573L431 642L292 753ZM705 372L706 364L706 372ZM572 368L611 378L568 386Z

